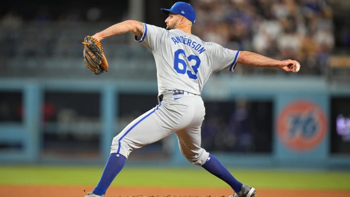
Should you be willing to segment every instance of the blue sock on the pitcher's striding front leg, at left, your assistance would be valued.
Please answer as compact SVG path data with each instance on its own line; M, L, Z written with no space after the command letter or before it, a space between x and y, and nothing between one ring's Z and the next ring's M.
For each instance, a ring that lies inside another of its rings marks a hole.
M99 196L105 194L106 190L108 189L109 185L112 183L113 179L123 169L125 165L125 161L126 161L126 158L121 154L118 154L118 153L110 154L105 164L105 168L102 173L101 179L98 182L95 189L92 191L92 193Z

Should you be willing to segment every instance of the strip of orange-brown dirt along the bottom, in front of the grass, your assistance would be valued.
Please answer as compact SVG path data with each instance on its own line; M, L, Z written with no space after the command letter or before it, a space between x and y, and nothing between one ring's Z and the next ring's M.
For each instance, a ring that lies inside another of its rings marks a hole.
M0 185L6 197L84 197L93 186ZM110 187L105 197L228 197L230 189L175 187ZM257 197L350 197L350 191L259 189Z

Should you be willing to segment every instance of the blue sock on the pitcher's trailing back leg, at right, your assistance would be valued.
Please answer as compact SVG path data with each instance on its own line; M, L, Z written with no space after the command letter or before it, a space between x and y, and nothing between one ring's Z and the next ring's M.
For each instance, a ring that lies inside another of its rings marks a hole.
M225 181L227 184L231 186L231 188L235 192L240 192L242 183L235 179L231 173L226 169L225 166L223 166L216 157L213 155L209 154L209 158L207 161L202 165L204 169L206 169L208 172L211 174L215 175L219 179L222 179Z

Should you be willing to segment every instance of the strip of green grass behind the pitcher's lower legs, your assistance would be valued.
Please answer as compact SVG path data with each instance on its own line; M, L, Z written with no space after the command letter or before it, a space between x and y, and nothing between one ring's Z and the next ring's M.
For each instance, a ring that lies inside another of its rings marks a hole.
M0 166L1 185L95 185L103 167ZM350 190L350 171L229 169L256 188ZM227 187L202 168L125 167L113 181L120 186Z

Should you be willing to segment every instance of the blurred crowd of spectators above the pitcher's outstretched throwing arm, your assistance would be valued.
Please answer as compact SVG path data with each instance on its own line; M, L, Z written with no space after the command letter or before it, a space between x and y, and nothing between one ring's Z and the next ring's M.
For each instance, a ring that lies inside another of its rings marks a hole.
M192 0L192 5L197 11L193 33L204 40L296 59L303 65L300 73L327 69L335 42L327 0Z

